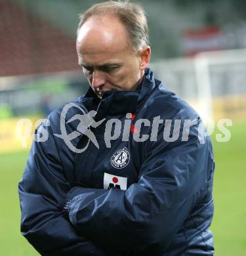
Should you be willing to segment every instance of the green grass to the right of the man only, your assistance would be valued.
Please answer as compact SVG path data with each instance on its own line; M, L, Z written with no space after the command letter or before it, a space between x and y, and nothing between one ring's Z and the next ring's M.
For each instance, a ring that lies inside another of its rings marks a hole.
M246 123L228 127L232 138L216 142L215 217L211 230L215 236L216 256L246 255Z

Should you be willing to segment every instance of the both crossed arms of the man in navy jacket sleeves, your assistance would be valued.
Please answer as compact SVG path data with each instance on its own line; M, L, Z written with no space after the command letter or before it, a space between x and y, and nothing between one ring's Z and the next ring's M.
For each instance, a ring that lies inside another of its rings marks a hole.
M205 191L211 168L211 161L204 164L208 144L193 135L170 147L153 145L138 182L126 191L72 188L49 145L33 142L19 184L22 234L42 255L104 255L100 245L163 251Z

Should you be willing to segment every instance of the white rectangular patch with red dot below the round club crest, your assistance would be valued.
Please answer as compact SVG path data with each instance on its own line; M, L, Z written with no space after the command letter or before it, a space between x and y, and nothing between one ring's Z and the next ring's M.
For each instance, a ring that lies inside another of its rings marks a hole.
M118 188L127 190L127 178L104 173L104 189Z

